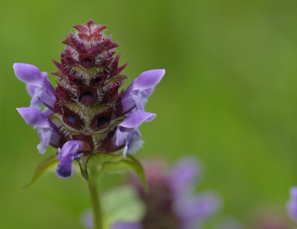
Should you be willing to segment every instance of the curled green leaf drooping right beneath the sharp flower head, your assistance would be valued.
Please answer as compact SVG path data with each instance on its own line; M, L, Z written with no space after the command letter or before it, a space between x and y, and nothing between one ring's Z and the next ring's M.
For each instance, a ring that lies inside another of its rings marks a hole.
M91 155L87 161L88 172L93 177L98 177L103 172L119 173L125 170L133 170L138 174L145 192L148 192L146 177L141 164L136 158L127 154L127 158L123 158L122 154L112 155L106 153L95 153Z

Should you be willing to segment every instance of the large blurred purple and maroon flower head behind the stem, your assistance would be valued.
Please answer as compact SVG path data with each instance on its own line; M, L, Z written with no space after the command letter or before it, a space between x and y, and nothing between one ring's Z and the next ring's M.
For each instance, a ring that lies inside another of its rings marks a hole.
M183 158L169 171L159 162L146 164L144 169L149 194L136 177L133 183L146 205L145 216L140 222L117 222L112 229L196 229L219 210L220 198L214 193L192 194L200 175L195 159Z

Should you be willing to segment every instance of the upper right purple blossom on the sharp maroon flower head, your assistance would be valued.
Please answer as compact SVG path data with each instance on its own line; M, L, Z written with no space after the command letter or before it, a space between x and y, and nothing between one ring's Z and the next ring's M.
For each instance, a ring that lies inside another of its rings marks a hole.
M122 113L129 112L135 105L139 110L143 110L143 102L146 103L147 101L143 101L143 98L147 98L153 93L154 87L161 81L164 74L165 69L155 69L141 73L127 88L121 98L123 105Z

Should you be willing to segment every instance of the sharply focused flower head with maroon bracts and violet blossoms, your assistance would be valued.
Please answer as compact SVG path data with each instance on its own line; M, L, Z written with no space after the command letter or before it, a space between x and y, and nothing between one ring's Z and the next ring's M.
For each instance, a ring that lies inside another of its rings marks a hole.
M59 165L56 174L72 175L72 161L94 153L114 153L123 149L123 156L139 150L143 141L138 127L152 121L156 114L144 111L147 98L162 79L165 70L150 70L140 74L126 91L119 92L127 76L118 67L118 43L106 37L105 25L93 20L73 26L67 46L61 53L59 69L51 74L59 79L54 89L48 74L37 67L15 63L13 68L20 81L26 83L32 97L30 107L17 108L26 124L37 129L41 140L37 145L44 154L52 145L58 148Z

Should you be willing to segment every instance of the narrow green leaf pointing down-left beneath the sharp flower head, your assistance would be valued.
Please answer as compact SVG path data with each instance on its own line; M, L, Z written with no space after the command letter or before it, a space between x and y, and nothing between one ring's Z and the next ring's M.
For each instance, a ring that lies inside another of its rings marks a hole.
M58 164L59 164L59 160L56 153L45 158L37 165L31 181L28 184L24 185L23 188L27 188L33 185L34 182L38 179L38 177L40 177L41 174L55 171Z

